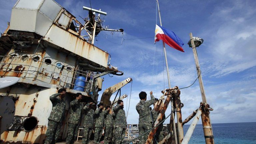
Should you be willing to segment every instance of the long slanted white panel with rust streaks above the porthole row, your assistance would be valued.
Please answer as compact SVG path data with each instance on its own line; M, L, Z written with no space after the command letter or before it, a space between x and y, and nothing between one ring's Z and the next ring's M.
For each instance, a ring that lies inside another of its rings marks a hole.
M108 53L54 24L45 35L44 40L107 67Z

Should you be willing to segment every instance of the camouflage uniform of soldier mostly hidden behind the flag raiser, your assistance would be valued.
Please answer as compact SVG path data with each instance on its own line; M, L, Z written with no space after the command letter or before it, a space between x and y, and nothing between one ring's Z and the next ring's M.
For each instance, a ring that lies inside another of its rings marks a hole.
M155 109L152 109L151 110L151 113L152 113L152 118L153 118L153 121L155 123L157 117L158 117L158 114L159 112L155 111ZM165 115L163 117L163 119L165 119ZM163 120L162 119L162 120ZM164 138L164 132L163 132L163 123L161 123L159 126L158 126L158 129L156 131L156 134L155 134L155 138L156 140L159 142L161 141L163 138Z

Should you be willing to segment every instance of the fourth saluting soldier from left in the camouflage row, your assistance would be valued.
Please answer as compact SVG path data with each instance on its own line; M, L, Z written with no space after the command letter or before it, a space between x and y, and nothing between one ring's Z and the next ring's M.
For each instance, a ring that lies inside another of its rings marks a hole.
M95 131L94 131L94 142L99 142L102 130L104 127L104 115L107 113L107 111L103 111L103 104L98 104L98 109L95 111Z

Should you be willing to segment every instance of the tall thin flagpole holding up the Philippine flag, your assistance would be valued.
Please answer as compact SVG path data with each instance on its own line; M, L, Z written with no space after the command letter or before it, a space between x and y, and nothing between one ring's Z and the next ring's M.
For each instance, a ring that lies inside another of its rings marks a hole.
M160 26L162 26L162 21L161 21L161 15L160 15L160 9L159 9L158 0L156 0L156 2L157 2L157 7L158 7ZM165 56L165 63L166 63L166 70L167 70L168 85L169 85L169 89L171 89L170 76L169 76L169 68L168 68L168 62L167 62L167 56L166 56L166 50L165 50L165 43L164 42L163 42L163 47L164 47L164 56ZM172 111L173 111L174 107L173 107L172 100L171 100L171 107L172 107ZM170 124L171 123L173 123L173 131L174 131L174 136L175 136L175 144L177 144L177 134L176 134L176 125L175 125L174 113L172 113L172 117L170 118Z

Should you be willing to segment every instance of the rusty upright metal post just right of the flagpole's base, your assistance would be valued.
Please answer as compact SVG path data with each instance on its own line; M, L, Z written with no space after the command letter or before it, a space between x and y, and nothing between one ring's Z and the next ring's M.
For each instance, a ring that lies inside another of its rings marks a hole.
M182 142L183 137L184 137L184 132L183 132L183 125L182 125L182 116L181 116L181 104L180 103L180 96L177 95L174 97L175 103L176 103L176 115L177 115L177 127L178 127L178 138L179 138L179 144ZM178 105L179 104L179 105Z

